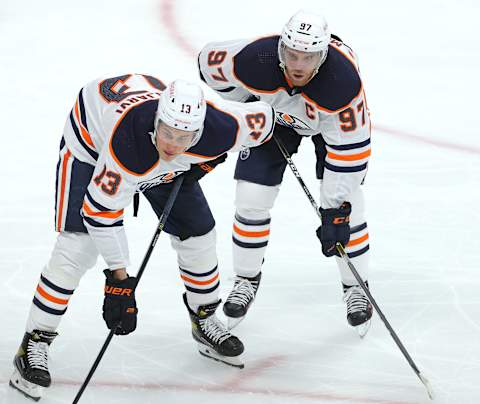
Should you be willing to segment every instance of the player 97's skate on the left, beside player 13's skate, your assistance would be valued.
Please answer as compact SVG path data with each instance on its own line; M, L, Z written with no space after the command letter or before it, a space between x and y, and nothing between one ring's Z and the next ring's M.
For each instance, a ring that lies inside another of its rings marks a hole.
M223 305L223 312L228 317L228 329L236 327L247 314L250 305L255 300L262 273L253 278L236 276L233 289Z

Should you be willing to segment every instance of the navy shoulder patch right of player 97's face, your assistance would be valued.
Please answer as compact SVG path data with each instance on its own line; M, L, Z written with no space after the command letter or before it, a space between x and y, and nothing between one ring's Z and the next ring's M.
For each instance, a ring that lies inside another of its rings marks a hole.
M321 109L334 112L347 107L358 96L362 81L348 57L330 45L327 59L302 90Z

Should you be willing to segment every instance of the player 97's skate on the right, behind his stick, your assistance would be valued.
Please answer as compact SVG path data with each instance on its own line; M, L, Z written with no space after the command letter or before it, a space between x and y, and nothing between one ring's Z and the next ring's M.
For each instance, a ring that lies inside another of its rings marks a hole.
M368 282L365 282L368 287ZM370 329L373 308L365 292L359 285L343 285L343 300L347 303L347 321L363 338Z

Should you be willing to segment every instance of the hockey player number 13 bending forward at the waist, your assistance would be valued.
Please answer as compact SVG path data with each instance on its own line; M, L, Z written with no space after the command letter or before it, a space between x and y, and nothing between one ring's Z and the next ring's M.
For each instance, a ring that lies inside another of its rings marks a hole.
M274 113L264 102L206 102L201 87L167 88L126 74L83 87L67 119L57 165L55 227L10 385L38 400L49 387L49 346L69 299L100 254L108 265L103 318L116 334L135 330L136 278L123 227L124 208L142 192L160 216L178 175L185 179L164 231L177 252L183 301L200 353L242 367L242 342L216 318L220 304L215 221L198 183L226 153L267 142Z

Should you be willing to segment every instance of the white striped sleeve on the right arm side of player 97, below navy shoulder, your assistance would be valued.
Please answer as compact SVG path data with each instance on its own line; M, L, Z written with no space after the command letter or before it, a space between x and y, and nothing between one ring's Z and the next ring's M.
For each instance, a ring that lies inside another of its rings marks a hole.
M370 118L363 91L350 105L322 114L320 131L326 143L322 208L337 208L361 185L370 158Z

